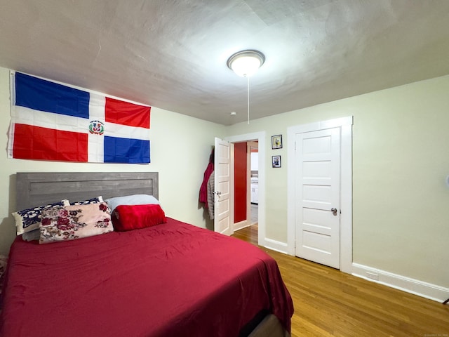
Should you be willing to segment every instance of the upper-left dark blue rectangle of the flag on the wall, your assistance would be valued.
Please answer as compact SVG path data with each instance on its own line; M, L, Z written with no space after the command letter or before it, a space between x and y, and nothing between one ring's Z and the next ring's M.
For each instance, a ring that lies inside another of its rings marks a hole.
M89 93L15 73L15 105L33 110L89 118Z

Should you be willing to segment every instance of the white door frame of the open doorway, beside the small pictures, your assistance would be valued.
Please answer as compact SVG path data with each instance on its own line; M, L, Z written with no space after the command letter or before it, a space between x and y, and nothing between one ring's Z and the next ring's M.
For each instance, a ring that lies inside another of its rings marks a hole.
M229 143L257 140L259 148L259 207L257 212L257 244L260 246L265 246L265 131L246 133L238 136L229 136L223 139L227 140Z

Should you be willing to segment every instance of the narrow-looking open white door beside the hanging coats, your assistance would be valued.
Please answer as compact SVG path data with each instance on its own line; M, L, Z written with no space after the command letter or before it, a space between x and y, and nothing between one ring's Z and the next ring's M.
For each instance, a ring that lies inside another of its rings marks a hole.
M234 225L233 149L234 144L220 138L215 138L214 230L225 235L231 235L233 233L232 226Z

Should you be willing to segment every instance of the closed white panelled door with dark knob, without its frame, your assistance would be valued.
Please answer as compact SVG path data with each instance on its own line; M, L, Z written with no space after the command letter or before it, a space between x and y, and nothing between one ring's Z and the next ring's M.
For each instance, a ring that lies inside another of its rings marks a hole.
M340 128L296 134L296 256L340 269Z

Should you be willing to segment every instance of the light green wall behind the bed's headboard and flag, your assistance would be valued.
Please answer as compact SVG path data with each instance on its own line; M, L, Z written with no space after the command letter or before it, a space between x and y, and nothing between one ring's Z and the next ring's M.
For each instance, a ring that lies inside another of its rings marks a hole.
M151 164L91 164L31 161L6 158L8 125L11 120L9 70L0 68L0 254L7 254L15 238L11 213L15 209L17 172L159 172L159 199L167 216L208 227L199 207L199 187L216 136L225 126L152 107ZM206 216L207 219L207 216Z

